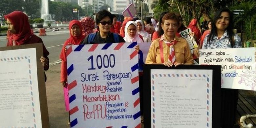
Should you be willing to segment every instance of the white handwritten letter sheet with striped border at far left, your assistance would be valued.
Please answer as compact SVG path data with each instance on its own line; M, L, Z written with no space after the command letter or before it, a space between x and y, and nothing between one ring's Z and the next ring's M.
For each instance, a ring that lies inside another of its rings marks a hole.
M36 49L0 51L0 67L0 127L42 128Z

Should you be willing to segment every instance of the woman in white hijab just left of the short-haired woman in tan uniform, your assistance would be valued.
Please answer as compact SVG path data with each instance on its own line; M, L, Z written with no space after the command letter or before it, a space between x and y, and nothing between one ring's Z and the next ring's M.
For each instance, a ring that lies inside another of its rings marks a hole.
M143 22L141 20L136 20L135 23L137 24L137 31L143 37L144 42L151 42L149 33L144 30Z

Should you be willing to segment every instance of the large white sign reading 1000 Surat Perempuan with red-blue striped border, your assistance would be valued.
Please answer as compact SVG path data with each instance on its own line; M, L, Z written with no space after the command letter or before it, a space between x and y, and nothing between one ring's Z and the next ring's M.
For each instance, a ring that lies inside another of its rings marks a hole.
M71 127L140 128L136 45L67 46Z

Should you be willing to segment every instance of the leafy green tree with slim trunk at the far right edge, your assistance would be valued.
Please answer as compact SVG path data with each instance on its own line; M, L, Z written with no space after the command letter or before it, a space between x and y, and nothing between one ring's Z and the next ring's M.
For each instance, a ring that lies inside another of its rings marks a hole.
M253 17L256 16L256 2L253 0L250 0L248 2L242 2L239 5L232 6L230 8L231 10L241 10L241 14L235 16L235 24L240 22L240 21L246 21L249 22L250 24L250 37L251 37L251 46L252 44L252 26L253 22L252 19Z

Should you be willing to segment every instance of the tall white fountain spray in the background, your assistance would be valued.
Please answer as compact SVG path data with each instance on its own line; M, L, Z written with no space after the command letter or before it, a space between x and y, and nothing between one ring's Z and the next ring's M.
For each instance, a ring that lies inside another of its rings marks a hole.
M48 0L42 0L41 18L44 19L45 25L55 22L54 20L52 20L52 15L49 14Z

